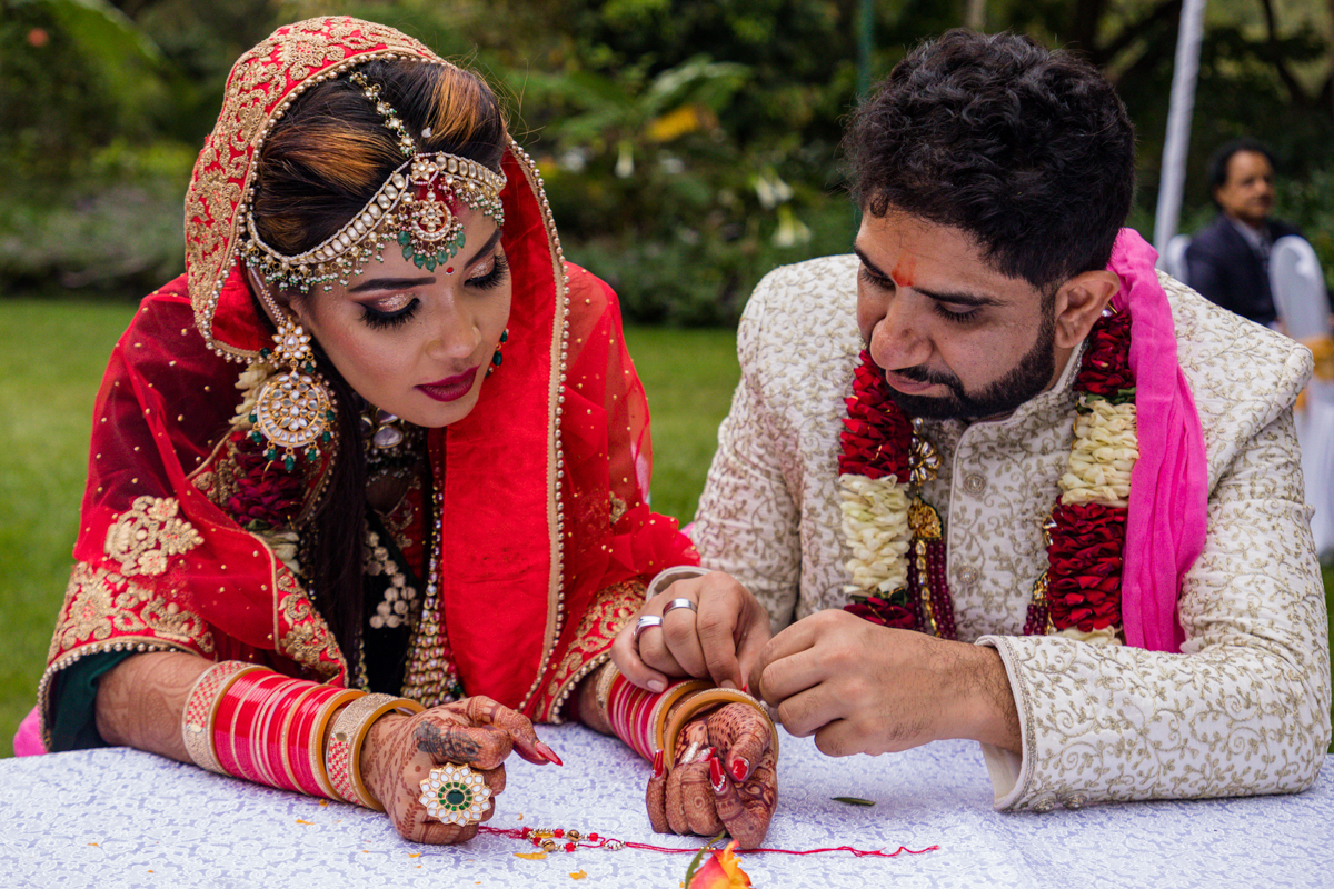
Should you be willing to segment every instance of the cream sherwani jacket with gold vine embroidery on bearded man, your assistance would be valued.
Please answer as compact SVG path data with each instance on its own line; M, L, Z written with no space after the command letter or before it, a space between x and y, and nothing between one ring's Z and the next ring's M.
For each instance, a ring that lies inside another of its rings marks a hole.
M756 288L695 520L704 564L748 586L775 630L848 598L838 454L862 348L856 267L812 260ZM1003 420L926 424L943 466L923 496L944 517L959 638L1000 652L1019 712L1022 756L983 746L1000 809L1290 793L1325 758L1325 593L1291 411L1310 352L1163 285L1209 456L1209 537L1182 588L1181 654L1022 636L1082 352Z

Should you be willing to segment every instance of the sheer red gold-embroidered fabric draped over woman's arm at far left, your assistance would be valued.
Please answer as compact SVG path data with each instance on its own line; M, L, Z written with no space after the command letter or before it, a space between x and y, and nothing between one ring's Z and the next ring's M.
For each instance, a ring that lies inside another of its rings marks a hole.
M143 301L112 351L75 566L39 685L48 742L52 681L92 654L177 650L343 674L332 634L268 541L205 494L225 484L236 380L236 365L204 347L181 279Z

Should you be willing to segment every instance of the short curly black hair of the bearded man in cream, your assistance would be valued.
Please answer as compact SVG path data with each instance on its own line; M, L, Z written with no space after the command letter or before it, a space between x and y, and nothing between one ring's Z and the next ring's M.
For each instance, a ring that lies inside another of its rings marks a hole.
M1135 135L1115 89L1069 52L955 29L919 45L843 140L858 204L972 236L1047 291L1101 269L1130 213Z

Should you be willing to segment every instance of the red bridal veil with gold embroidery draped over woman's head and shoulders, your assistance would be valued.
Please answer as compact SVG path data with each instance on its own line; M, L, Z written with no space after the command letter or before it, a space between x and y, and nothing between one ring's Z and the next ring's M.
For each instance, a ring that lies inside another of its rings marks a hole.
M185 199L187 275L144 300L97 395L76 565L39 688L48 744L52 680L89 654L180 650L348 681L350 653L280 557L287 538L247 530L227 508L244 473L225 446L241 399L235 361L272 336L236 257L237 208L256 147L292 99L390 56L448 64L391 28L316 19L280 28L232 69ZM472 413L428 435L443 510L436 580L466 693L559 721L642 582L696 557L646 504L648 409L615 295L564 263L528 156L511 147L503 172L510 337ZM252 500L296 485L308 512L338 452L356 446L336 443L304 477Z

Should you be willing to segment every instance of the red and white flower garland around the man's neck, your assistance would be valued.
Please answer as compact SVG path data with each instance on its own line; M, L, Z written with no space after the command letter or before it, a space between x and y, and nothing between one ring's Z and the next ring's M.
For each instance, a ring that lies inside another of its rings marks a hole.
M1139 457L1129 312L1106 312L1094 325L1074 389L1074 444L1043 524L1047 569L1034 582L1023 632L1121 644L1126 508ZM852 576L844 609L883 626L956 638L943 522L919 493L935 478L939 456L864 351L843 424L839 505Z

